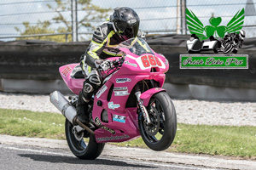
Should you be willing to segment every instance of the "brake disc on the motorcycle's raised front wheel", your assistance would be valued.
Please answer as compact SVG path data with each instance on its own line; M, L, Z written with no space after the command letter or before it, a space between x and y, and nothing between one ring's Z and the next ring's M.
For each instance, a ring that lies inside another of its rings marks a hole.
M150 110L148 111L148 116L151 123L147 125L146 122L143 122L143 127L149 136L154 136L159 132L160 129L160 115L155 107L151 106Z

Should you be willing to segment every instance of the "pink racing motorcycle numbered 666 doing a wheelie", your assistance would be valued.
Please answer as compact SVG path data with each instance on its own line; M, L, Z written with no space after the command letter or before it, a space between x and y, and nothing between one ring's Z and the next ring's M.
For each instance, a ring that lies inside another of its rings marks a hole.
M59 71L73 92L67 100L60 92L50 101L65 116L67 143L80 159L96 159L107 142L124 142L142 136L152 150L166 150L175 137L177 116L171 98L161 88L168 60L156 54L142 38L119 44L119 58L102 75L100 88L89 102L90 126L76 119L76 102L84 76L79 64L63 65Z

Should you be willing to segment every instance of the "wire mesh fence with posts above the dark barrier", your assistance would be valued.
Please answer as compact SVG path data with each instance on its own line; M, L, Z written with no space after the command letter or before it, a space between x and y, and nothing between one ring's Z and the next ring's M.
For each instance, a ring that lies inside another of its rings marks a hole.
M243 30L247 37L256 37L255 0L9 0L0 3L0 40L89 40L95 27L119 6L134 8L140 16L141 29L147 34L189 34L183 20L185 8L205 25L212 16L221 17L221 26L245 8Z

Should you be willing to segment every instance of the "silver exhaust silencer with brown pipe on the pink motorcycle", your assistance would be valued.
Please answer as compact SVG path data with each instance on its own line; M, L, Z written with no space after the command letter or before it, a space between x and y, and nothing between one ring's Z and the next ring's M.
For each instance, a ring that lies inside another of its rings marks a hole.
M67 118L74 126L79 124L77 127L78 131L82 131L83 128L89 133L94 134L94 132L82 122L79 122L77 119L77 111L73 105L70 105L68 100L61 94L59 91L55 91L52 94L49 94L49 101L55 105L55 107L61 111L62 115Z

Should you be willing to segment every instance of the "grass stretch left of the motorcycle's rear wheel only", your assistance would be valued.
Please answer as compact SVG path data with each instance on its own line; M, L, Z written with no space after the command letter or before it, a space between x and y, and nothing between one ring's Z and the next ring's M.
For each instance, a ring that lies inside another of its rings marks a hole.
M0 109L0 133L48 139L65 138L61 114Z

